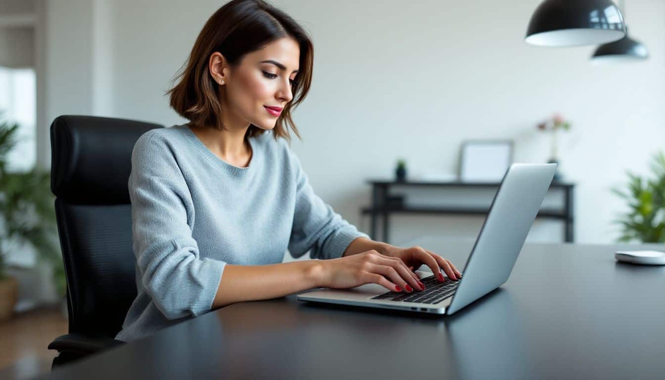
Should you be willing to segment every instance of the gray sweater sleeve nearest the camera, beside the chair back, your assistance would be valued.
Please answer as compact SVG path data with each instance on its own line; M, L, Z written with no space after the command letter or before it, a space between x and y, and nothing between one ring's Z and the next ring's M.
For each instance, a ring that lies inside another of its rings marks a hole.
M210 311L225 262L199 256L194 204L172 148L150 134L132 151L132 246L141 284L168 319Z

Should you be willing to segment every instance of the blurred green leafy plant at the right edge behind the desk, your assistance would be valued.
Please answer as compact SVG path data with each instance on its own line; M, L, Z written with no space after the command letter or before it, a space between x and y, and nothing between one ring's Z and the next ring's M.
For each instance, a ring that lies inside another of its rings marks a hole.
M628 212L615 220L622 226L620 242L665 243L665 154L658 152L650 165L652 178L628 171L626 190L612 192L628 202Z

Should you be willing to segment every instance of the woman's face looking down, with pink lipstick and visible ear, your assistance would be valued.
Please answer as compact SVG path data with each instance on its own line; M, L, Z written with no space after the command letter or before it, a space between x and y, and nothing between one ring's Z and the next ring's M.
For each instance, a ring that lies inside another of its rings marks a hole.
M213 60L219 59L215 67ZM230 67L219 53L211 57L211 75L221 86L225 122L246 128L254 124L262 129L275 127L281 109L293 99L291 82L299 70L300 48L291 38L273 41L258 51L248 53L237 67ZM215 77L215 68L217 71Z

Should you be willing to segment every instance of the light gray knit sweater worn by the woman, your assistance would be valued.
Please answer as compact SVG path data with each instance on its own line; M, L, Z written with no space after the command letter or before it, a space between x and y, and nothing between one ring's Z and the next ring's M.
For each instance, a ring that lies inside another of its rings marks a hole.
M213 154L187 124L150 130L132 152L129 193L138 295L116 339L210 311L224 266L342 256L366 236L314 194L272 132L249 139L247 168Z

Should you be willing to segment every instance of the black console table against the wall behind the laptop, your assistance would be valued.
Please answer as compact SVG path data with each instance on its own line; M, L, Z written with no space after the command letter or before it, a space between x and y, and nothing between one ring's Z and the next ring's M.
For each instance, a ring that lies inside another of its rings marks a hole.
M394 182L369 180L372 184L372 206L362 208L360 213L371 217L370 237L377 240L376 223L378 216L382 217L382 242L390 240L390 214L446 214L446 215L487 215L489 208L455 206L455 207L414 207L392 206L388 203L388 194L392 187L436 187L436 188L499 188L499 183L472 183L472 182ZM540 210L537 218L552 218L561 220L565 224L563 240L567 243L575 241L575 218L573 212L573 190L575 184L552 182L550 189L562 189L564 192L563 208L559 210Z

